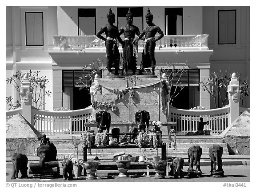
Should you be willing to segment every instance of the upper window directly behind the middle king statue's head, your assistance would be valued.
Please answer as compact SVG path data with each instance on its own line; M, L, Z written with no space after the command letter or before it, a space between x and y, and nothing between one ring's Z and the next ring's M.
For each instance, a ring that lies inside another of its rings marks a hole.
M129 7L117 8L117 27L120 29L122 26L127 24L126 14ZM139 28L140 31L143 29L143 7L132 7L130 8L133 15L133 25Z

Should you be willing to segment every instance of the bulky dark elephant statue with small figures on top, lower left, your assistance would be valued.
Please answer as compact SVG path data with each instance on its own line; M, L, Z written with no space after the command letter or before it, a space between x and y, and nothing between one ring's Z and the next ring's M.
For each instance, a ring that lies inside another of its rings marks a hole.
M37 148L37 157L40 157L39 163L41 168L45 167L45 162L57 161L57 149L55 145L52 142L46 145L40 145Z

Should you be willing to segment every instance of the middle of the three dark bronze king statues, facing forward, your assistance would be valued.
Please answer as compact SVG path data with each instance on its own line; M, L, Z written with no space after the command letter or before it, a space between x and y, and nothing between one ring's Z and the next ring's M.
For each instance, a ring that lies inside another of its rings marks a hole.
M127 20L127 24L121 27L119 31L119 35L122 35L124 33L124 42L123 42L124 52L122 57L123 57L123 70L124 70L125 76L128 75L128 69L132 70L132 75L135 75L136 73L136 68L137 68L136 57L138 56L136 51L137 49L136 42L138 41L135 40L134 38L135 38L135 34L138 36L140 35L139 28L132 24L133 15L130 8L128 10L128 13L126 14L126 20ZM133 43L133 41L135 42Z

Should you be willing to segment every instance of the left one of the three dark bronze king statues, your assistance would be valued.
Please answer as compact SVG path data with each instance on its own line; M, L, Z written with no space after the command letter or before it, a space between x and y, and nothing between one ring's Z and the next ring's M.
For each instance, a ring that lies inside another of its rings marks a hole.
M109 8L107 18L108 24L102 26L97 32L96 36L105 41L108 75L114 75L111 70L112 67L115 68L115 75L119 75L118 69L120 62L120 53L118 51L117 39L120 43L123 43L123 41L120 38L118 28L113 25L116 19L115 14L112 12L111 8ZM101 35L102 33L105 33L107 38L104 38Z

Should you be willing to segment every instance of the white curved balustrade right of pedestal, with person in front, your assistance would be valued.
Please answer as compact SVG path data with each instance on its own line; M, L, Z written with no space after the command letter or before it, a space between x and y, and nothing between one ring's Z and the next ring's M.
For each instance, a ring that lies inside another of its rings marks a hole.
M177 123L176 131L187 133L196 131L199 118L209 121L211 133L221 133L229 125L229 106L212 110L181 110L170 106L170 121Z

